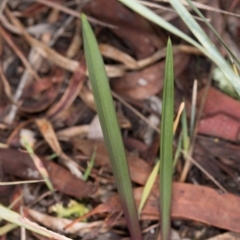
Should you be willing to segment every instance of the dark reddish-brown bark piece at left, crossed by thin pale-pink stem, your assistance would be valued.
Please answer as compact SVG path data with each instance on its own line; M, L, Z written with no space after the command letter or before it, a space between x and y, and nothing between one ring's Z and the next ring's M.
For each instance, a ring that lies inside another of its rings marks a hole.
M53 186L60 192L77 197L89 197L94 192L93 185L74 177L65 168L41 158ZM23 179L41 179L32 159L27 153L15 149L0 149L0 164L3 173Z

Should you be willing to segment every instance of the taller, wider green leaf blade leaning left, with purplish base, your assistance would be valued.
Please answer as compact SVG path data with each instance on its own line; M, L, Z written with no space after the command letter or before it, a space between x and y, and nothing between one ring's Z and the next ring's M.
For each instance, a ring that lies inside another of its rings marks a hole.
M83 44L90 82L108 150L113 175L120 195L125 218L133 240L141 240L140 225L133 198L131 180L123 141L117 122L108 78L94 33L82 15Z

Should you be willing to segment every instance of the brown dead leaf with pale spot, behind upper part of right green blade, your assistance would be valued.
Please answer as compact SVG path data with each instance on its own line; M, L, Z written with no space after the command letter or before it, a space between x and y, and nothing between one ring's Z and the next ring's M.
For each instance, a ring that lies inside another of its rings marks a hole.
M188 59L185 54L174 55L175 76L183 71ZM122 78L112 79L112 89L120 95L133 99L148 98L162 90L164 69L165 62L161 61L143 70L129 73Z

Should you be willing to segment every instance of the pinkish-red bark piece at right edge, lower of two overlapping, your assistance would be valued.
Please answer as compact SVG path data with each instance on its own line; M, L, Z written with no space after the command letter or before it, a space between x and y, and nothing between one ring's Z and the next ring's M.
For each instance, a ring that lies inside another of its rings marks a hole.
M216 114L200 121L198 133L237 141L239 140L239 128L239 121L225 114Z

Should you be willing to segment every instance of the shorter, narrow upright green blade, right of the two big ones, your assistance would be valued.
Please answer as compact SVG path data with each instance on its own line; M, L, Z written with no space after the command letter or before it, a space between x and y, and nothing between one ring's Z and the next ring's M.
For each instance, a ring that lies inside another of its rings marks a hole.
M160 208L161 239L169 238L170 211L172 197L173 171L173 117L174 117L174 72L173 53L170 39L167 44L166 67L164 76L163 108L161 118L160 145Z

